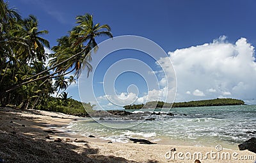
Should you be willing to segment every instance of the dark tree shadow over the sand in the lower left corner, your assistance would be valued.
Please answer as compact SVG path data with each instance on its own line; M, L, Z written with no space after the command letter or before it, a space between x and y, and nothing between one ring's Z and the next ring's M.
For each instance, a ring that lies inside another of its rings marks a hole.
M0 111L0 159L4 162L136 162L113 155L100 155L99 149L91 148L90 143L76 146L44 139L48 133L42 128L47 128L47 123L35 121L32 116L20 116L19 112L16 109ZM26 127L21 124L26 124ZM155 160L146 162L156 163Z

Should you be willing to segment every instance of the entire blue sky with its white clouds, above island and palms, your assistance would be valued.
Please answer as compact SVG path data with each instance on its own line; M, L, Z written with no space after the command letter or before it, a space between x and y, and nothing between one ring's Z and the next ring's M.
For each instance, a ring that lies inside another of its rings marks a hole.
M19 0L9 1L9 6L17 8L22 17L36 15L40 29L49 31L44 38L51 47L76 26L77 15L90 13L94 22L109 24L113 36L141 36L166 53L148 56L145 50L123 49L93 54L93 73L89 78L82 74L83 80L67 90L76 100L93 104L96 100L110 109L154 99L239 98L256 104L256 1ZM109 68L112 75L108 75ZM79 87L81 83L87 83L93 93Z

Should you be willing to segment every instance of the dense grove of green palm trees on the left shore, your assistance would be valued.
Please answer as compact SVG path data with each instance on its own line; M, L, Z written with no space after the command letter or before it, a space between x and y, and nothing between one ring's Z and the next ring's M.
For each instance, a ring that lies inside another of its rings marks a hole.
M77 105L84 105L68 98L65 91L83 68L87 68L88 75L92 71L90 50L97 51L95 39L113 36L108 24L95 24L93 15L88 13L77 16L76 24L67 36L57 40L52 54L47 54L45 49L50 48L50 43L44 36L49 31L39 29L35 15L23 19L17 9L0 0L1 106L63 112L68 106L78 109L81 107Z

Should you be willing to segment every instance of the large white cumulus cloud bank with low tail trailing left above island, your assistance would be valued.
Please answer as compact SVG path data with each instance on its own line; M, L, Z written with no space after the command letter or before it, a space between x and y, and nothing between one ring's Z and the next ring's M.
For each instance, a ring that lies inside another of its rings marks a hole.
M211 98L239 98L247 104L255 104L256 97L256 63L254 47L246 38L240 38L236 43L229 43L226 36L204 43L168 52L166 58L160 58L157 63L165 72L165 77L159 80L159 89L148 90L141 97L136 93L119 93L99 97L111 108L112 104L140 104L152 100L172 102L175 96L175 74L177 81L176 102L189 100L204 100ZM170 64L170 60L172 64ZM174 67L175 73L173 72ZM163 75L163 71L148 72L148 74ZM166 86L166 82L167 85ZM167 96L167 97L168 97Z

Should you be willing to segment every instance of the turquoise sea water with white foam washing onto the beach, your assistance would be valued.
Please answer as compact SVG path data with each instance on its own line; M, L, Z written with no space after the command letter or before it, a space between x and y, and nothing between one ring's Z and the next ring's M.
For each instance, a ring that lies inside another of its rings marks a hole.
M143 111L147 110L140 110ZM158 111L164 113L164 110ZM86 118L84 121L71 123L68 128L75 134L91 134L120 143L127 143L129 137L134 137L160 144L221 144L223 148L237 148L237 144L256 136L246 134L247 131L256 130L256 105L172 108L170 112L175 116L154 115L152 117L156 119L153 121L124 118L105 118L100 121L95 118L95 121Z

